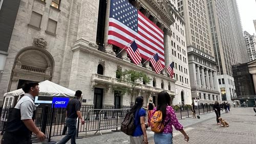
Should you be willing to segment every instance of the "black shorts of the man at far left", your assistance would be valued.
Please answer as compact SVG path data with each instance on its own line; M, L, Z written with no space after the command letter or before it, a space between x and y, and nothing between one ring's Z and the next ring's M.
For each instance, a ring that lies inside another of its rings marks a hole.
M30 135L17 135L10 132L5 132L1 140L2 144L31 144Z

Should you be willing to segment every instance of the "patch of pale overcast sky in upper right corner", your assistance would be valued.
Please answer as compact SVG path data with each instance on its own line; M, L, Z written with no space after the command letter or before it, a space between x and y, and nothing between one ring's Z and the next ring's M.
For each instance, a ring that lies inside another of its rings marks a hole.
M237 0L243 31L249 34L256 34L253 20L256 19L255 0Z

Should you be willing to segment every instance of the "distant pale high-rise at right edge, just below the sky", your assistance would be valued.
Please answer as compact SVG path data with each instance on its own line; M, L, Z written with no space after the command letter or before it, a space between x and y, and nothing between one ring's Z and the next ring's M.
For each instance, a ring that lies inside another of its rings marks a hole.
M244 39L247 48L247 54L249 57L249 61L256 59L256 36L250 35L248 32L244 31Z

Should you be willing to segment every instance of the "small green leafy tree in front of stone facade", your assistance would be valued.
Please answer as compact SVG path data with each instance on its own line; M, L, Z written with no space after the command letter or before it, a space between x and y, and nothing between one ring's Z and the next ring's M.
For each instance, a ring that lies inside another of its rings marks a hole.
M136 86L141 85L141 83L149 83L151 81L150 77L147 77L146 74L144 74L141 71L135 71L135 70L127 70L125 69L122 71L121 69L117 70L117 78L119 82L125 83L127 87L116 87L115 89L120 91L122 94L125 92L128 92L132 96L132 102L133 102L133 95L134 90ZM131 102L131 103L132 103Z

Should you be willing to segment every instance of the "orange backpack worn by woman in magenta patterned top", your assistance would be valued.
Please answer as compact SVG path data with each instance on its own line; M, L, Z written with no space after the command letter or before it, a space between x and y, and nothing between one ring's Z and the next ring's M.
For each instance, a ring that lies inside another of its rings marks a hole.
M154 115L151 117L151 130L155 133L161 133L163 132L164 129L164 124L163 124L163 114L161 110L158 110L154 113Z

